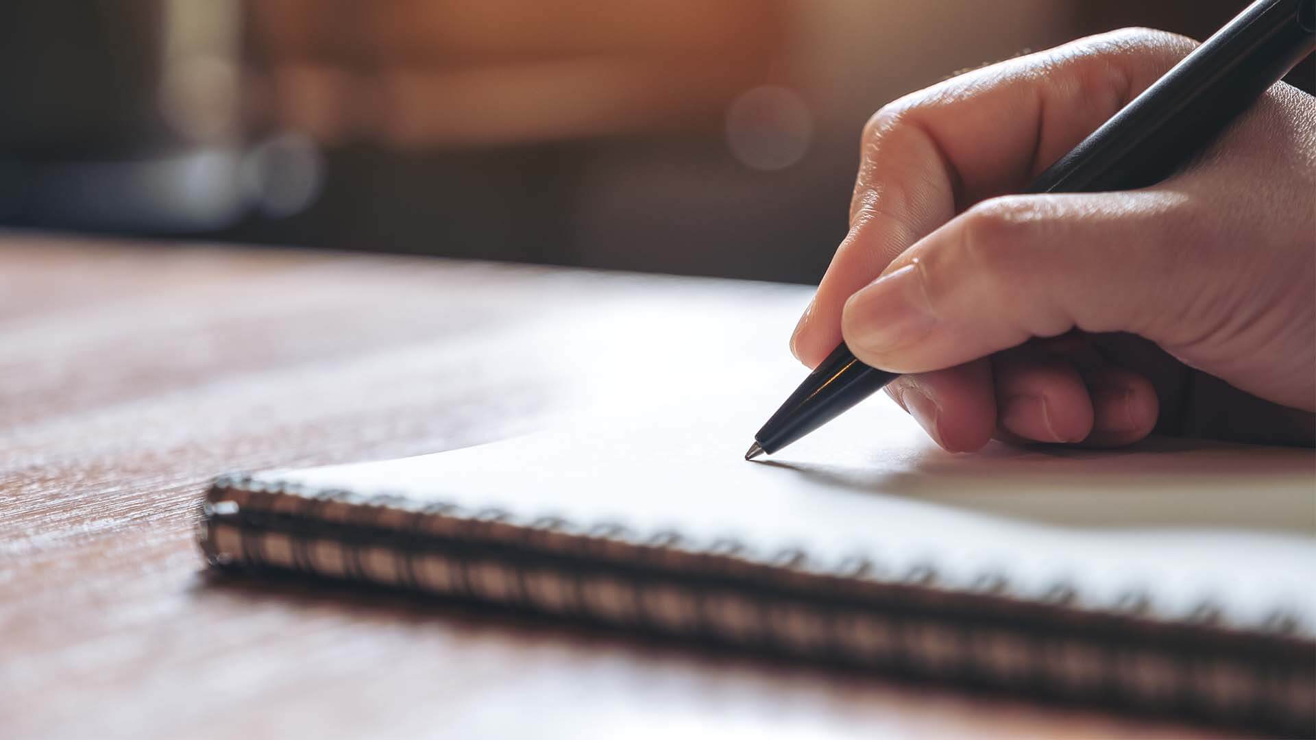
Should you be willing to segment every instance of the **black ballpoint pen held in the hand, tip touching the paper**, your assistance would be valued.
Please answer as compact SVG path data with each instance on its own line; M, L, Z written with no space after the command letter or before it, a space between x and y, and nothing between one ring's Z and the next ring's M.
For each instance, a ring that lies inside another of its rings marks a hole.
M1154 184L1209 144L1316 49L1316 0L1257 0L1121 108L1024 192L1101 192ZM898 373L842 342L754 435L772 454L882 390Z

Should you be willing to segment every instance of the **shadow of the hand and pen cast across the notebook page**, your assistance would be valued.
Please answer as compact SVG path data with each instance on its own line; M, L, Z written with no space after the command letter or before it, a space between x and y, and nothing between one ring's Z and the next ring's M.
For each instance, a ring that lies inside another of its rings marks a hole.
M1316 535L1311 449L1163 437L1121 449L1001 442L971 456L929 449L900 470L790 460L759 465L834 489L1074 529Z

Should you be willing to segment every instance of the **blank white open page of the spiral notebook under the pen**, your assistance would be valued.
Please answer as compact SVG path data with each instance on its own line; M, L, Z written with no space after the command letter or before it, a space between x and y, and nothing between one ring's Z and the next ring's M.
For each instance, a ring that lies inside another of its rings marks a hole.
M994 442L955 456L874 399L767 462L746 462L740 448L762 415L750 407L676 399L657 416L596 413L465 450L258 479L499 507L524 521L554 515L696 542L729 537L765 558L795 546L819 562L929 565L951 586L992 571L1023 598L1066 583L1080 606L1134 589L1166 619L1204 599L1237 624L1283 608L1311 631L1311 450Z

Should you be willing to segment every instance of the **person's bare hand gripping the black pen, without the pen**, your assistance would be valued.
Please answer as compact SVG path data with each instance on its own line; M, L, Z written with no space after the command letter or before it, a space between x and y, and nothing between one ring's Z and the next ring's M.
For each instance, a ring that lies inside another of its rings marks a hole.
M850 230L791 337L905 373L942 448L1152 432L1316 440L1316 100L1271 87L1144 190L1007 195L1195 46L1126 29L883 107Z

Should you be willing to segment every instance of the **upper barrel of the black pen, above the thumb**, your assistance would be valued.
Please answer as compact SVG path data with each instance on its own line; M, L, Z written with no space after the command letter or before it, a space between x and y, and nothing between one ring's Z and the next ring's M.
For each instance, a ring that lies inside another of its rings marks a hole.
M1155 184L1316 49L1316 0L1258 0L1142 91L1025 192Z

